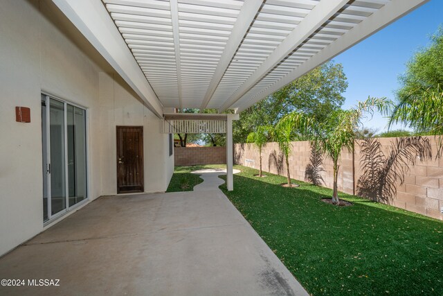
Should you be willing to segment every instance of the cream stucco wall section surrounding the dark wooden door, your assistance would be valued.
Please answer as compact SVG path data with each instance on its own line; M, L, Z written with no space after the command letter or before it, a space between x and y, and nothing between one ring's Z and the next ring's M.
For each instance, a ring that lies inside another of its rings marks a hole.
M174 171L174 156L169 156L168 134L160 134L160 120L140 101L134 99L123 80L107 73L99 74L100 125L105 137L101 151L102 194L117 194L116 127L143 126L145 192L165 191Z

